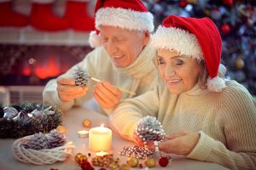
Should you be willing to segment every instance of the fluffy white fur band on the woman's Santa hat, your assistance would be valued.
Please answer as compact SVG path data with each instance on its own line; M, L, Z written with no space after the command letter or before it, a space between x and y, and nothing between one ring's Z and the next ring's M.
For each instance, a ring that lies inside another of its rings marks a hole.
M177 54L190 55L198 60L204 59L195 35L180 28L159 26L150 44L154 48L175 50Z

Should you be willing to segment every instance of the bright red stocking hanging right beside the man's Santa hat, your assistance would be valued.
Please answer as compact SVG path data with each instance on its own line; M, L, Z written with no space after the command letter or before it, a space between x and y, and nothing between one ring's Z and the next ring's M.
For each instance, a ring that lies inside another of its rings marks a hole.
M88 0L71 0L66 2L65 18L69 27L75 31L94 30L94 18L88 13Z

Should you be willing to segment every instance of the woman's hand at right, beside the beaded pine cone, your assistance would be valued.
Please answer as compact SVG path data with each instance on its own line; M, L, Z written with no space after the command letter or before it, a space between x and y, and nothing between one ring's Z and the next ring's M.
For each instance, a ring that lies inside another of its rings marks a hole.
M186 156L194 149L199 139L199 133L189 131L174 133L166 136L165 141L160 142L159 149L166 153Z

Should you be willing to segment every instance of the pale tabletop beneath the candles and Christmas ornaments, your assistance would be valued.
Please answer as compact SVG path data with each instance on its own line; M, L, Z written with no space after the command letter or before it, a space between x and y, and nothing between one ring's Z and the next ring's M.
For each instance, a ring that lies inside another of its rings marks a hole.
M79 130L89 130L82 126L82 121L84 118L89 118L92 122L92 127L101 126L104 123L105 127L108 127L108 116L103 116L95 111L83 107L73 108L70 111L63 113L62 120L63 126L67 128L67 139L73 141L75 149L73 150L73 156L67 158L66 161L56 162L52 165L37 166L32 164L22 163L17 161L12 155L11 146L15 139L0 139L0 169L1 170L23 170L23 169L32 169L32 170L47 170L50 168L58 168L59 170L79 170L81 169L79 165L74 161L74 156L78 153L88 154L88 138L80 139L78 135ZM114 157L118 156L118 152L122 150L123 146L132 145L131 141L127 141L119 137L118 134L113 133L113 144L112 150ZM94 156L93 152L90 152ZM222 170L227 169L215 163L195 161L183 158L183 156L172 156L172 164L169 164L168 167L154 167L150 169L173 169L173 170L182 170L182 169L207 169L207 170ZM121 156L120 161L125 163L125 157ZM96 167L95 169L99 169ZM139 168L133 168L139 169Z

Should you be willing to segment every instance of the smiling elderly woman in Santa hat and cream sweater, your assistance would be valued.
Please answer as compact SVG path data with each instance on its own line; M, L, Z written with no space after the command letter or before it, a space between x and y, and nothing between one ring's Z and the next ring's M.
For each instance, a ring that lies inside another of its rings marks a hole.
M136 141L137 122L155 116L166 138L159 149L230 169L256 169L256 106L247 89L224 79L221 37L208 18L169 16L152 38L162 81L126 99L110 116Z

